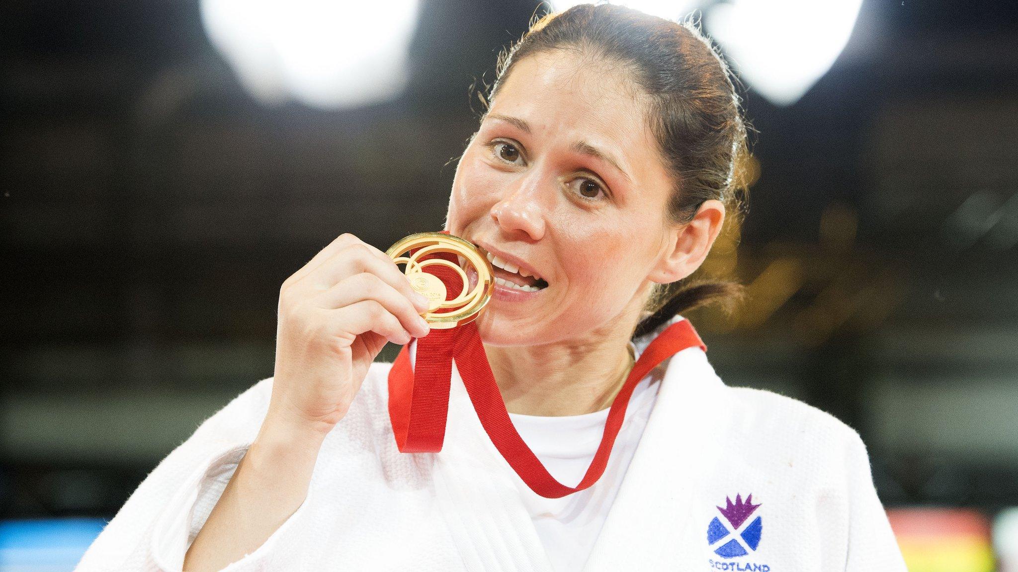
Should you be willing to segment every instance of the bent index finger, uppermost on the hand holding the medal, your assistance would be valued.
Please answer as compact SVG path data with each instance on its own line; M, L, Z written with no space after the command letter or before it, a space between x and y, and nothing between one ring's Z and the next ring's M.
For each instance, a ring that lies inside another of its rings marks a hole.
M406 275L392 259L385 254L378 256L371 248L363 243L350 244L307 274L302 282L314 284L317 290L327 290L351 276L371 273L406 297L416 306L417 313L423 313L428 309L428 299L410 286Z

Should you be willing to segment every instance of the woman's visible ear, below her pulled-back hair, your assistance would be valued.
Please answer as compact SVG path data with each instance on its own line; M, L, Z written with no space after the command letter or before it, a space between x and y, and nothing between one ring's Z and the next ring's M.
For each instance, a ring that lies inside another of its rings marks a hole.
M704 201L691 221L668 229L664 255L647 278L668 284L695 272L711 252L724 224L725 204L714 198Z

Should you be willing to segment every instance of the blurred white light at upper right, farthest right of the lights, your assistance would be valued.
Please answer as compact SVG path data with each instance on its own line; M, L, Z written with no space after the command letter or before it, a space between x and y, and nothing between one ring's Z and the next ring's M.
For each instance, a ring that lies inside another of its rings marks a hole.
M776 105L799 100L848 43L862 0L733 0L706 27L739 75Z

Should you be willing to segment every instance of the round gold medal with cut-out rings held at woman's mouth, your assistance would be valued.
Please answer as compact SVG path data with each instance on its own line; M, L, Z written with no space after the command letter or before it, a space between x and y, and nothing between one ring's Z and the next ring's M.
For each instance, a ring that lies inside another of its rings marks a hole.
M407 254L410 250L412 253ZM448 252L457 254L456 261L433 258L421 260L428 254ZM403 274L414 291L428 298L428 311L421 316L432 328L454 328L459 324L472 322L488 305L495 292L495 271L488 259L470 242L442 232L418 232L407 236L386 250L386 254L397 265L406 265ZM477 273L477 284L470 288L470 281L461 266L467 265ZM455 271L463 282L463 289L453 299L446 299L446 285L438 276L425 272L429 266L443 266ZM442 308L456 308L453 311L437 313Z

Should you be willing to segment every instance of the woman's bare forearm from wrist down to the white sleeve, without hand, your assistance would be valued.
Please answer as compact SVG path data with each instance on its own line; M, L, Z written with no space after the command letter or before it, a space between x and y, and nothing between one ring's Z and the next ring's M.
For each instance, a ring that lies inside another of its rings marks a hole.
M221 570L254 552L307 495L324 435L263 424L184 557L186 572Z

